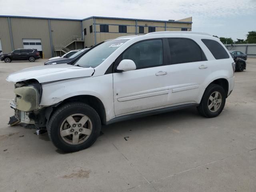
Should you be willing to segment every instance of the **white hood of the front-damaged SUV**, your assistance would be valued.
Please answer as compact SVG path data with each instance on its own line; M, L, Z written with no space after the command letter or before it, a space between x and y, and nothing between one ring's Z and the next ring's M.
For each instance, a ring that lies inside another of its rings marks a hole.
M20 82L36 79L39 83L58 81L71 78L87 77L94 74L94 68L83 68L68 64L44 65L31 67L10 74L8 82Z

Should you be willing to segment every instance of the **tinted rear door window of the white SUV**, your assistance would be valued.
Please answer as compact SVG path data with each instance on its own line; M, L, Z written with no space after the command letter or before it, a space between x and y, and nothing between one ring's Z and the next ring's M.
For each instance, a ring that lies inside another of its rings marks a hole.
M206 57L196 42L191 39L168 39L172 64L205 61Z

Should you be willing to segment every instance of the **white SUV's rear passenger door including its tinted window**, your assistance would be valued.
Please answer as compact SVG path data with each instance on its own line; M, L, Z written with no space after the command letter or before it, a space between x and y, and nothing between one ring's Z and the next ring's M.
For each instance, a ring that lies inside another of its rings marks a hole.
M168 104L195 103L202 83L210 74L200 46L189 38L168 38L170 74Z

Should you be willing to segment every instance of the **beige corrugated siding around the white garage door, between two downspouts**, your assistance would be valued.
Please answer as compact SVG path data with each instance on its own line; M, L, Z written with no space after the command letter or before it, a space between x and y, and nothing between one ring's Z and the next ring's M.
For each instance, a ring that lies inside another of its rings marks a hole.
M14 49L23 48L22 39L41 39L45 58L51 57L47 19L10 18Z

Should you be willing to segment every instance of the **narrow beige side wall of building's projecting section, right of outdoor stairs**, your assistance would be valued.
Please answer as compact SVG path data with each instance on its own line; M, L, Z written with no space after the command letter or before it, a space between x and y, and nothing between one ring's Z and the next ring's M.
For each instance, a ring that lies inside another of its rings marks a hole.
M92 25L92 33L90 33L90 26ZM84 35L84 46L91 47L94 46L94 25L93 19L83 20L82 28L86 28L86 35Z

